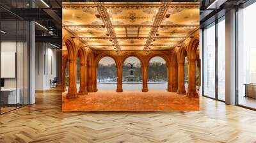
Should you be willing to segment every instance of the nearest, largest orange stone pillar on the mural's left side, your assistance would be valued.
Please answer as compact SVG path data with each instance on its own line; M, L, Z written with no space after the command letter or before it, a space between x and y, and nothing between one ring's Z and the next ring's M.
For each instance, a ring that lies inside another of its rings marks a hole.
M76 61L74 59L68 60L68 93L67 98L77 98L76 89Z

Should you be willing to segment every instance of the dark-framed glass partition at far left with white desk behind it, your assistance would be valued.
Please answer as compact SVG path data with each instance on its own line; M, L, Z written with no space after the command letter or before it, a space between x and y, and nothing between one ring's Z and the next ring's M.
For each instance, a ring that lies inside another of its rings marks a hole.
M29 22L8 8L28 1L0 1L0 114L29 104Z

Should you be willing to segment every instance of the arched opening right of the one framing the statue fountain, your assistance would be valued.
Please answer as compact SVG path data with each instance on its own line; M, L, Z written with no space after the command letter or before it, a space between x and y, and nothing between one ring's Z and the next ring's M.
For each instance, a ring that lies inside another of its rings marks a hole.
M167 89L168 71L163 57L152 57L148 63L148 89Z

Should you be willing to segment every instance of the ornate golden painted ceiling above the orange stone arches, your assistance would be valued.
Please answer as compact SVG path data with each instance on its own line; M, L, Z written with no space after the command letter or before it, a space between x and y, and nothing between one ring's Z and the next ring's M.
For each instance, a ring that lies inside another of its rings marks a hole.
M172 50L199 28L199 3L63 2L62 19L93 50Z

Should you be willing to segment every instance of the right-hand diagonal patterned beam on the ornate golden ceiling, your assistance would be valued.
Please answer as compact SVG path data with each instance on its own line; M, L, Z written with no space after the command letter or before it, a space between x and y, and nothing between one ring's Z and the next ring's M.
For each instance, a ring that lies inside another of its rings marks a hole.
M157 33L158 27L160 26L162 20L164 19L164 15L165 15L166 11L168 10L168 6L167 6L168 4L169 4L169 1L161 2L161 7L158 9L156 18L153 23L153 27L151 27L151 29L150 29L150 32L148 34L148 39L146 41L146 44L145 44L145 47L143 50L148 50L148 47L152 43L154 36Z

